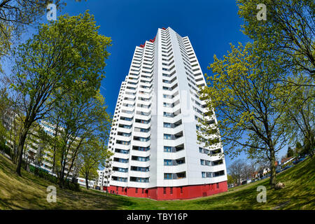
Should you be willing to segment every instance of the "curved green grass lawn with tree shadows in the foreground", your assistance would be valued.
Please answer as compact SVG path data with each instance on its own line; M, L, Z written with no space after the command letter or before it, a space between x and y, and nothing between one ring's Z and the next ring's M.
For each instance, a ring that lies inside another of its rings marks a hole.
M22 177L17 176L12 162L0 155L0 209L315 209L314 171L315 158L309 158L278 174L277 181L286 185L281 190L271 190L269 179L265 179L195 200L155 201L57 188L57 202L48 203L46 189L52 183L24 170ZM260 185L267 188L266 203L256 200Z

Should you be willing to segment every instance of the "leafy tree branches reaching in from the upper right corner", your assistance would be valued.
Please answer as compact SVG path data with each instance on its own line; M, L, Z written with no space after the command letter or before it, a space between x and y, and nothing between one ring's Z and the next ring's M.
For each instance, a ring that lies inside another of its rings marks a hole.
M239 15L244 18L243 32L260 49L272 50L274 59L288 73L315 74L315 22L312 0L237 0ZM264 3L267 20L257 20L256 7Z

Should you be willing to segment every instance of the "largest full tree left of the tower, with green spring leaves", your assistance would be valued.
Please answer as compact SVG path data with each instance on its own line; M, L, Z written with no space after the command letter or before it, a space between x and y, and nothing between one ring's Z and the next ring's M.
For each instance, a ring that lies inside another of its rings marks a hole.
M18 144L20 175L22 151L29 128L36 120L45 120L56 102L78 83L83 94L97 91L104 78L106 47L111 38L98 34L92 15L60 16L41 25L38 33L15 50L13 90L22 93L20 108L25 116Z

